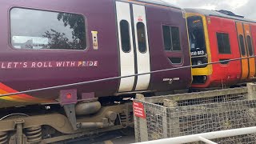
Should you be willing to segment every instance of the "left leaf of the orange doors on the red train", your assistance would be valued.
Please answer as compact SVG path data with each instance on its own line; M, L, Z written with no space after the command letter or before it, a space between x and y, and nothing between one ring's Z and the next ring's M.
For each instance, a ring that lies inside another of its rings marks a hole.
M242 22L236 22L236 26L237 26L237 31L238 31L238 43L239 43L239 47L240 47L240 54L241 54L241 58L246 58L248 57L248 51L246 49L246 41L245 41L245 33L244 33L244 29L243 29L243 24ZM241 75L241 81L245 81L250 73L250 65L249 65L249 60L246 59L242 59L241 60L242 63L242 75Z

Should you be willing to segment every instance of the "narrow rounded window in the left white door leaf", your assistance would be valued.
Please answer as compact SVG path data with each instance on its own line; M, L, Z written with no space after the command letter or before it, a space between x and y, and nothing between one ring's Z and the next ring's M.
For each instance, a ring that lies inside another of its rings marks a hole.
M120 30L121 30L121 42L122 42L122 50L124 52L130 52L130 29L129 22L126 20L122 20L120 22Z

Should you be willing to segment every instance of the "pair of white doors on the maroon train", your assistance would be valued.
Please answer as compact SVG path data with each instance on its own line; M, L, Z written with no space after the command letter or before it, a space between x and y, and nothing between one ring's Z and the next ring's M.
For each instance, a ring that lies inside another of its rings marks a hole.
M116 2L121 76L150 72L145 6ZM118 92L147 90L150 74L121 78Z

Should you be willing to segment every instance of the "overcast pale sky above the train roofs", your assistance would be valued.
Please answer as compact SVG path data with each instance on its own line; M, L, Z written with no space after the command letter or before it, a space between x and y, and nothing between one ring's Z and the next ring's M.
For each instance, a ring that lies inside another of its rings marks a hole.
M230 10L234 14L256 20L256 0L162 0L182 8Z

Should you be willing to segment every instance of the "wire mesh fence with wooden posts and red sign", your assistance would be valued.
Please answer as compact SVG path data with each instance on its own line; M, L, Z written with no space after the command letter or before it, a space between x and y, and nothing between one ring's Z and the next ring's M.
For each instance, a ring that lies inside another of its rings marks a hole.
M157 98L138 95L136 142L256 126L256 85ZM136 111L134 111L136 112ZM256 143L256 134L211 139L217 143ZM213 137L214 138L214 137ZM196 142L203 143L203 142Z

